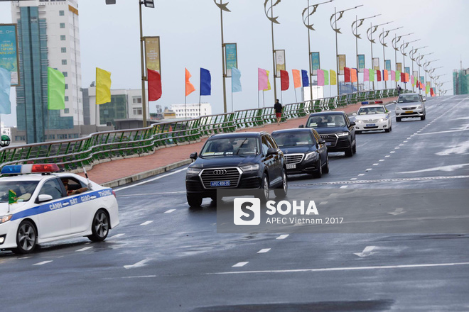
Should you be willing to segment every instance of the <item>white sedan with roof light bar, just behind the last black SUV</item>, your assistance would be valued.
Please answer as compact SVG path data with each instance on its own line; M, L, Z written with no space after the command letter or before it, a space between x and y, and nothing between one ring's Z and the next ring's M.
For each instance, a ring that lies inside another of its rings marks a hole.
M392 130L389 111L382 104L362 106L355 116L355 133L367 130Z

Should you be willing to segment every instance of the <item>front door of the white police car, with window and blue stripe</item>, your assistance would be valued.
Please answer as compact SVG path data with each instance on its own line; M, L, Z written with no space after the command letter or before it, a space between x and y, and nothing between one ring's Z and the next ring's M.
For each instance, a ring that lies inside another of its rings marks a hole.
M44 240L56 238L70 233L70 205L63 198L63 184L59 179L48 179L41 186L39 195L52 196L51 201L45 201L36 207L38 211L38 236Z

